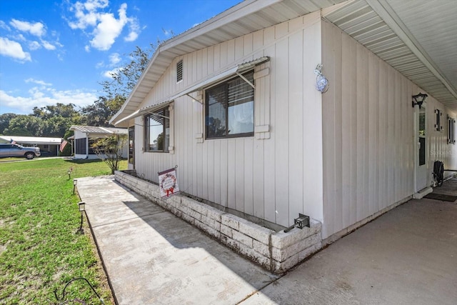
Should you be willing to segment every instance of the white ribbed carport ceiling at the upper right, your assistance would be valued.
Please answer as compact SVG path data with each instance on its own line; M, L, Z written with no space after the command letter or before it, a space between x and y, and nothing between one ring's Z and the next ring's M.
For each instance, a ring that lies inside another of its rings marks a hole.
M324 18L457 111L457 4L354 0Z

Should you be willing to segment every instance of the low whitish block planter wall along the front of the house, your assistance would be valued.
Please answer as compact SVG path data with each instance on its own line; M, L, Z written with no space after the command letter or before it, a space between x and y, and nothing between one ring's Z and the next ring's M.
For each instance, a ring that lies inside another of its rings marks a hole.
M137 178L134 171L116 171L114 177L120 184L276 274L291 269L322 247L319 221L311 219L310 228L296 228L288 233L273 231L181 194L163 200L159 186Z

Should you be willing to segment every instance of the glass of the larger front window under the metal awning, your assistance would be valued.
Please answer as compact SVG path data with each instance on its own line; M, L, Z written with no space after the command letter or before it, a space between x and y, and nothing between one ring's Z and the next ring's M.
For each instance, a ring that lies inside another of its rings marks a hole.
M251 82L253 71L243 74ZM254 89L241 77L206 90L206 139L253 136Z

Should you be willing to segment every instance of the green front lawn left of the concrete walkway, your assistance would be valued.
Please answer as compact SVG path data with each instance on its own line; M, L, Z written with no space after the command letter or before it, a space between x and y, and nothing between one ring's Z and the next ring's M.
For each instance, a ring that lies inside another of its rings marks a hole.
M73 194L74 178L110 172L99 160L1 162L0 304L59 304L54 291L61 297L76 277L89 280L105 304L112 303L90 229L76 234L81 214ZM84 281L74 281L66 294L66 300L100 303Z

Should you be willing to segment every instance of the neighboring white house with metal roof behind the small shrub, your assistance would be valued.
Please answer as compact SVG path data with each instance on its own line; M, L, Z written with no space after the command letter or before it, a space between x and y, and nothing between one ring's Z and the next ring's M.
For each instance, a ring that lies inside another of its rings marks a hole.
M114 134L127 134L127 129L125 128L99 126L73 125L70 127L70 130L74 131L74 136L71 137L74 140L74 159L97 159L98 156L91 149L91 144L94 143L94 140L106 138ZM128 154L128 143L125 141L122 157L127 158Z

